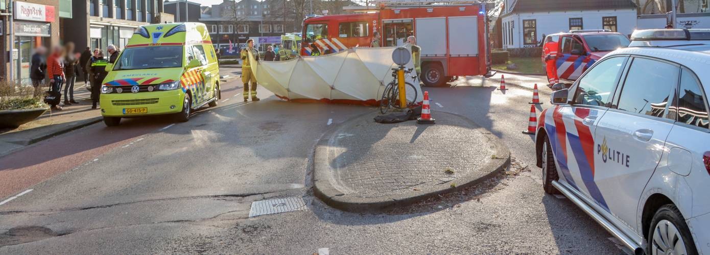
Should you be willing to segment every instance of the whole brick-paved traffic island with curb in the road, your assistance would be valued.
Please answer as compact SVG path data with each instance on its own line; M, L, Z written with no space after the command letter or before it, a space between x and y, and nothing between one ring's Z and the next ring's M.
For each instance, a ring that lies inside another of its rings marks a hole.
M506 145L461 115L435 111L436 125L374 122L361 115L315 147L315 196L334 208L373 212L486 181L510 164Z

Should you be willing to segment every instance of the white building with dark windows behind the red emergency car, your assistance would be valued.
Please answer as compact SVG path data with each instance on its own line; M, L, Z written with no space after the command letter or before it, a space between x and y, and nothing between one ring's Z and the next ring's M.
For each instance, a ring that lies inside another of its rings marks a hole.
M636 27L632 0L505 0L503 47L537 47L543 35L575 29L609 29L630 35Z

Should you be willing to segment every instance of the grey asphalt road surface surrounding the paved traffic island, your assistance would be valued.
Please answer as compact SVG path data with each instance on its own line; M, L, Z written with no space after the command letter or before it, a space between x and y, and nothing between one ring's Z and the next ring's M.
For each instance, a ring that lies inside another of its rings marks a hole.
M464 115L510 148L510 172L478 188L376 215L329 208L310 189L315 142L376 109L261 88L262 101L244 103L234 81L188 123L99 123L1 157L0 201L23 195L0 205L0 254L622 254L569 200L543 193L520 132L532 92L488 85L498 80L425 89L434 118ZM252 201L288 196L308 210L248 217Z

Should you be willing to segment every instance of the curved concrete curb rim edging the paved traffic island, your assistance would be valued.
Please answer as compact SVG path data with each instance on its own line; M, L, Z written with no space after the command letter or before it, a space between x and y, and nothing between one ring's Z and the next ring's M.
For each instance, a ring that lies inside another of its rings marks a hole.
M441 112L441 111L433 111ZM493 178L498 173L506 169L510 165L510 150L506 145L501 142L501 140L493 135L488 130L481 128L481 126L474 123L469 118L455 113L442 112L451 115L456 115L462 118L471 126L474 127L474 132L480 132L488 142L488 145L493 149L493 155L496 155L494 159L491 159L488 164L481 167L481 169L487 169L488 174L480 176L478 178L473 176L462 176L457 180L457 186L454 188L449 185L432 186L431 188L422 189L420 191L412 191L410 193L393 194L388 196L382 196L377 198L361 198L356 196L351 196L339 191L331 184L331 174L332 169L329 166L329 156L327 153L327 147L330 144L331 137L334 136L337 130L348 125L349 123L355 122L360 118L369 118L371 113L366 113L364 115L358 115L344 123L341 123L322 135L318 140L317 145L314 149L314 164L313 164L313 188L314 193L317 198L320 198L327 205L349 212L378 212L381 210L403 207L416 203L420 200L425 200L444 193L451 193L458 191L461 188L466 188L469 186L474 186L478 183L486 181Z

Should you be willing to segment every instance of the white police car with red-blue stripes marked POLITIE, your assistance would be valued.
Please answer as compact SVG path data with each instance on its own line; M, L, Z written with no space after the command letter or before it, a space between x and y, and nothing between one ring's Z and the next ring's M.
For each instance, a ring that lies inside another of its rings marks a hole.
M710 30L638 30L542 111L562 193L635 254L710 254Z

